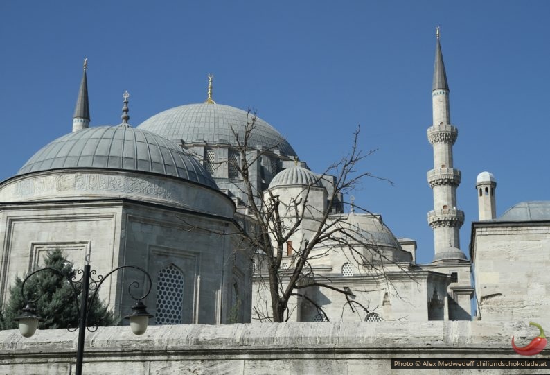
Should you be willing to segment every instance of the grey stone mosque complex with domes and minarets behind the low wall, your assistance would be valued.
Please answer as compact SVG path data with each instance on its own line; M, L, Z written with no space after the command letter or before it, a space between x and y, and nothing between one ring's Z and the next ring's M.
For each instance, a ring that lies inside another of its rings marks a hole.
M1 302L8 299L17 275L42 265L48 250L60 249L76 268L90 254L98 274L124 264L147 270L153 285L145 304L157 324L256 321L253 311L271 304L269 293L262 271L253 268L258 254L233 235L238 223L254 225L247 209L250 194L238 168L246 157L252 161L249 178L258 192L256 204L269 195L290 202L307 191L313 208L286 244L283 279L296 262L294 250L308 241L325 213L328 223L371 241L371 248L362 249L363 258L349 255L350 243L336 241L315 249L325 256L310 262L316 277L353 290L357 303L330 288L306 286L303 297L289 306L294 312L290 321L470 320L474 292L478 319L531 319L544 313L546 304L537 296L550 293L544 276L550 262L545 250L550 244L549 202L518 204L496 218L496 180L481 173L470 259L461 248L465 216L456 200L461 171L454 166L452 150L458 129L450 119L439 33L433 123L427 130L434 151L434 166L427 173L434 195L427 214L434 258L428 264L416 263L416 242L394 236L382 216L355 212L353 202L344 210L341 195L329 200L335 180L310 171L263 119L216 103L212 79L204 103L168 109L134 128L125 93L119 125L90 127L85 61L73 131L48 143L0 183ZM246 136L250 121L254 130ZM245 138L247 155L241 155L238 146ZM281 220L294 219L282 215ZM531 250L534 258L524 259L522 254ZM367 272L365 257L380 271ZM508 272L517 272L516 280L524 286L518 287ZM126 271L115 274L102 291L116 313L132 304L125 290L134 279L145 282L142 275ZM357 308L361 305L369 308Z

